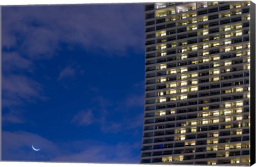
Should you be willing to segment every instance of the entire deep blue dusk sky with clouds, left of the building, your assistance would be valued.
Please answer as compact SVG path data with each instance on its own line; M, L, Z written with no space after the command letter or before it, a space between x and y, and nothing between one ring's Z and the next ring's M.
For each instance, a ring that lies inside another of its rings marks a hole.
M142 4L3 7L2 160L139 163L143 26Z

